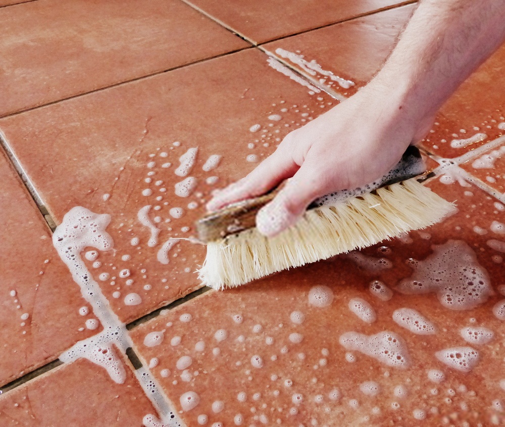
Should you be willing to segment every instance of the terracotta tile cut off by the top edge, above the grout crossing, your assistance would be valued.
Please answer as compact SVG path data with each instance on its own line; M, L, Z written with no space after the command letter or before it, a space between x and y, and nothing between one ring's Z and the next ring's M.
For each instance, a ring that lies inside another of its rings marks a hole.
M185 0L186 1L186 0ZM290 34L329 25L403 3L398 0L362 0L359 2L215 2L192 0L209 15L233 28L237 33L264 43Z

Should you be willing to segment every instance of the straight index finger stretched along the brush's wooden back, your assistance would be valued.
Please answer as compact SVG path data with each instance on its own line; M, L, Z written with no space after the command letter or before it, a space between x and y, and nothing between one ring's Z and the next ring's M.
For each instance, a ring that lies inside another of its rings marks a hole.
M207 203L210 211L250 197L256 197L274 188L281 181L293 176L298 165L293 162L290 153L277 149L245 178L237 181L221 191Z

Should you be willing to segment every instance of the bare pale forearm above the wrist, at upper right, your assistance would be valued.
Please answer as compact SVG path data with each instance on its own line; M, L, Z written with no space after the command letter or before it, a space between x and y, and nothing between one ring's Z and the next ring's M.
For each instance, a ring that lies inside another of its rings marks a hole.
M504 0L422 0L372 85L414 120L434 115L505 40Z

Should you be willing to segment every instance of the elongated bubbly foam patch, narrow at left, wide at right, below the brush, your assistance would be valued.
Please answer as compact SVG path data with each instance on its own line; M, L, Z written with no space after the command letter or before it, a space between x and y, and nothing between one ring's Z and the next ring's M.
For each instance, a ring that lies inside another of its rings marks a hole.
M410 365L405 341L394 332L385 331L370 336L347 332L340 336L339 342L346 350L359 351L387 366L406 368Z

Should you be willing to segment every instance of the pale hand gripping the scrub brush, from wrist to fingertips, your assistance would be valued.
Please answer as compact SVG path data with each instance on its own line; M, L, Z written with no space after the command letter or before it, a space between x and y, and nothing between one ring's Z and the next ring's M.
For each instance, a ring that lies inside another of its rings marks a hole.
M254 171L217 191L207 208L259 196L288 180L257 215L258 230L274 236L294 224L318 197L382 177L432 124L431 115L419 117L401 93L388 86L373 81L290 132Z

